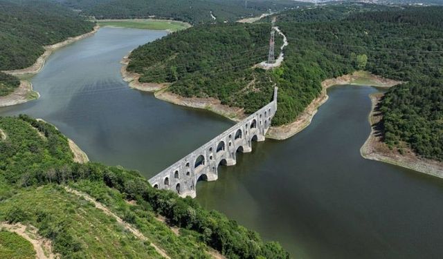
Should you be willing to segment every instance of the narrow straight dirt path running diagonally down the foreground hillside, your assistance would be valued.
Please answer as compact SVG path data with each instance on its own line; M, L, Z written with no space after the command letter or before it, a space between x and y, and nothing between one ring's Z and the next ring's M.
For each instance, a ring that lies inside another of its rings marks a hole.
M74 189L71 189L69 187L65 187L66 191L69 193L73 193L75 195L78 195L79 197L84 198L85 200L93 203L97 209L100 209L101 211L103 211L106 215L111 216L112 218L115 218L118 222L118 224L121 224L123 227L125 227L125 229L131 231L131 233L134 234L134 236L136 236L137 238L144 240L144 241L148 241L150 242L150 240L148 240L143 233L141 233L140 231L138 231L138 229L134 228L131 226L131 224L123 221L120 217L118 217L118 215L114 214L112 211L109 211L109 209L107 207L105 207L103 204L101 204L100 202L97 202L96 200L94 200L91 196L87 195L86 193L82 193L80 191L76 191ZM161 249L160 247L157 247L155 244L153 244L152 242L150 242L151 246L154 247L154 249L157 251L157 253L161 254L161 256L163 256L164 258L169 258L168 254L165 253L165 251L163 251L163 249Z

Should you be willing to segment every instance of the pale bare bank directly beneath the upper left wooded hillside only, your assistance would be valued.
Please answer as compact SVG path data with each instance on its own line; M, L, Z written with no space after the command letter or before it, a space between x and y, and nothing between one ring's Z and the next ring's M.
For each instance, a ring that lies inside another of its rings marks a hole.
M100 26L95 26L91 32L87 32L77 37L69 37L65 41L59 42L57 44L44 46L45 52L37 59L37 61L35 61L35 63L32 66L29 66L28 68L22 68L17 70L3 70L2 72L7 73L9 75L35 75L42 70L46 62L46 59L48 59L48 57L52 54L54 50L72 44L73 42L78 41L80 39L89 37L94 33L96 33L98 31L98 28L100 28Z

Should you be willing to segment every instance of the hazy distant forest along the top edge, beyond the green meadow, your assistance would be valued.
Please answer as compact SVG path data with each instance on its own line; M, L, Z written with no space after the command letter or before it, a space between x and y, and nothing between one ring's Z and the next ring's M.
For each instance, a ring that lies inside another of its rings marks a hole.
M306 6L289 0L58 0L66 6L82 10L96 19L132 19L160 17L192 24L235 21L269 12ZM216 19L211 17L211 12Z

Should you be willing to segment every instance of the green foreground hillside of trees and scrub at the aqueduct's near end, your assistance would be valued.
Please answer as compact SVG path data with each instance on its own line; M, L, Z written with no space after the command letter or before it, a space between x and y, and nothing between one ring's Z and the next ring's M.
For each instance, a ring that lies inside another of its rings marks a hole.
M159 258L149 242L109 227L116 222L66 193L65 186L106 204L171 258L209 258L206 246L227 258L289 257L280 244L263 242L225 215L206 211L191 198L152 188L137 171L73 162L66 137L46 122L26 115L0 117L0 129L0 221L32 224L63 257ZM179 227L180 235L156 220L157 214Z

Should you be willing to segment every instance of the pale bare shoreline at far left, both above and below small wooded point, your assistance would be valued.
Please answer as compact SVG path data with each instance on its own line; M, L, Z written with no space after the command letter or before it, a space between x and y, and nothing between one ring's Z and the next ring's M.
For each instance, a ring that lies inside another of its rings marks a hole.
M69 37L65 41L59 42L57 44L44 46L45 49L44 53L37 58L37 61L35 61L35 63L32 66L29 66L28 68L21 68L16 70L3 70L1 72L14 76L36 75L42 70L46 62L46 59L48 59L48 57L55 50L67 46L69 44L72 44L73 42L78 41L80 39L89 37L94 33L96 33L99 28L100 26L94 26L91 32L87 32L76 37ZM20 80L20 86L13 93L7 96L0 97L0 107L12 106L15 104L23 104L24 102L37 99L39 96L40 96L39 93L33 90L33 85L30 83L30 81Z

